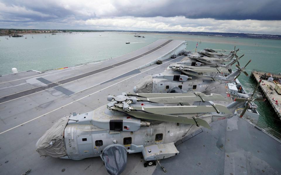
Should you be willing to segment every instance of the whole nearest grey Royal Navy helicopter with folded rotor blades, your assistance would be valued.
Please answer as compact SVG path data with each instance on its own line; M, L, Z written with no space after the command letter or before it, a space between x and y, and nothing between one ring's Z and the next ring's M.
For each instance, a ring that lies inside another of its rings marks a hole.
M126 167L127 153L141 152L146 165L178 155L176 141L201 127L211 129L211 122L232 117L239 106L264 101L253 94L238 94L227 106L213 102L225 101L222 95L200 92L110 95L107 105L59 119L37 141L36 151L72 160L100 156L107 172L117 175Z

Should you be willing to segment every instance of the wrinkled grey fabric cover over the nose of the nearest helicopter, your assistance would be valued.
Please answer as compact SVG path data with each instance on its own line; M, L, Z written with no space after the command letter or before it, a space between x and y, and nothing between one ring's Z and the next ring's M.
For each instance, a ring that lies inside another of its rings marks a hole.
M36 143L36 151L41 156L62 157L66 155L63 133L69 117L59 119ZM54 141L57 140L57 141ZM49 143L53 141L51 146Z

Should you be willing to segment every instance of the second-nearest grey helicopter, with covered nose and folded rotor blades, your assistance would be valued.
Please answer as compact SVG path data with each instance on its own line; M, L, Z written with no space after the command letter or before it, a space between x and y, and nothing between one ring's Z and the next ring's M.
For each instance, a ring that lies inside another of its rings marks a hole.
M245 65L245 67L251 62ZM196 62L196 64L201 64ZM135 93L186 93L189 91L207 92L217 85L233 82L245 67L236 65L237 70L223 67L198 67L186 64L170 64L161 74L146 76L133 88ZM222 75L222 76L220 76Z

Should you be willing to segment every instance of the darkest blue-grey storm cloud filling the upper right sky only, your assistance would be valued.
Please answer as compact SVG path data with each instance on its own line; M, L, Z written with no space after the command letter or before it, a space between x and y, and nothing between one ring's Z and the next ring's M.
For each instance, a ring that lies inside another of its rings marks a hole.
M281 20L281 0L175 0L158 3L114 3L118 16L214 18L217 20Z

